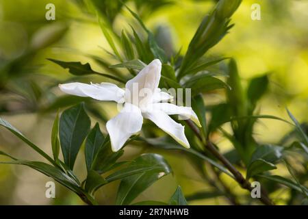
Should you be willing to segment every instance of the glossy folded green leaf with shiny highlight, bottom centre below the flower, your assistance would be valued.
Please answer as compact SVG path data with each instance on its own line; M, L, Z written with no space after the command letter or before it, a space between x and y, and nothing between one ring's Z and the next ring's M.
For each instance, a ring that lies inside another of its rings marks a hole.
M131 165L151 165L157 168L122 179L116 196L116 205L129 205L146 188L171 172L170 166L164 157L157 154L140 155Z

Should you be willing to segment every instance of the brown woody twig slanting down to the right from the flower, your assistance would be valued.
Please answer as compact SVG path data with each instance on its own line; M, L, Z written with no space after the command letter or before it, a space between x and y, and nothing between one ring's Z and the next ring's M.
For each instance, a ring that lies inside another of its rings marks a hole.
M244 188L245 190L248 190L249 192L251 192L253 190L253 188L251 188L251 183L249 183L249 181L246 180L243 177L243 175L240 173L240 171L238 171L238 169L236 169L229 162L229 160L226 157L224 157L224 155L222 155L216 149L216 147L214 146L214 144L211 143L211 141L209 141L209 140L207 140L207 142L203 141L203 138L201 136L200 131L192 123L191 120L185 120L185 121L188 124L188 126L192 129L192 131L194 131L194 133L196 134L197 138L203 143L203 146L205 146L205 149L210 151L211 154L213 154L232 173L232 175L235 177L235 181L237 181L242 188ZM268 196L266 194L264 194L264 192L261 192L261 198L259 198L259 199L265 205L274 205L274 203L270 200L270 198L268 198Z

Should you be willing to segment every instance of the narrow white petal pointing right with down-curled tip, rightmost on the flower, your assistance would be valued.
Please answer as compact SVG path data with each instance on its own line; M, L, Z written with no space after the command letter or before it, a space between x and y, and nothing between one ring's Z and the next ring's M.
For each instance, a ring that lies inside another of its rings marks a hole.
M171 103L153 103L147 107L147 110L162 111L168 115L184 116L184 119L191 119L198 127L201 127L198 116L196 116L192 107L181 107Z

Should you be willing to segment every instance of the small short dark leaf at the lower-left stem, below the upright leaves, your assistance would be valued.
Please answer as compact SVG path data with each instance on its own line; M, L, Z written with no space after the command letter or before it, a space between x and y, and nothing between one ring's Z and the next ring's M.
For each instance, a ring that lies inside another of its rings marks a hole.
M86 179L85 190L89 194L93 195L101 186L105 185L107 181L95 170L88 170L88 176Z

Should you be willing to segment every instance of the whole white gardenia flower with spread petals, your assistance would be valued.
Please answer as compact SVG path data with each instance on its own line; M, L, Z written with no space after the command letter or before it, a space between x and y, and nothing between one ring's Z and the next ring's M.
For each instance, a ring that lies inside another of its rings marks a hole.
M161 103L172 99L167 92L158 88L162 63L153 60L136 77L127 81L125 89L113 83L64 83L59 87L67 94L90 96L99 101L124 103L118 115L106 124L110 135L112 151L120 150L133 134L141 130L143 118L147 118L164 130L179 144L190 148L184 133L184 126L176 123L168 115L181 115L190 118L201 127L198 117L191 107L181 107L172 103Z

